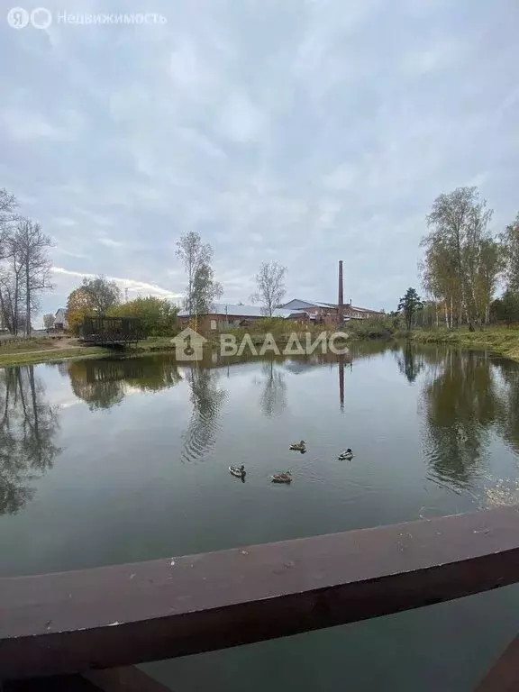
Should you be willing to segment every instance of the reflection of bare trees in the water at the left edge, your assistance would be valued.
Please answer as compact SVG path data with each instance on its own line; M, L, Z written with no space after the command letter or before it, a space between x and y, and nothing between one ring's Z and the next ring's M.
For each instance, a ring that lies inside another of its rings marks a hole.
M57 410L44 395L32 365L0 371L0 514L14 514L32 499L31 481L59 451Z

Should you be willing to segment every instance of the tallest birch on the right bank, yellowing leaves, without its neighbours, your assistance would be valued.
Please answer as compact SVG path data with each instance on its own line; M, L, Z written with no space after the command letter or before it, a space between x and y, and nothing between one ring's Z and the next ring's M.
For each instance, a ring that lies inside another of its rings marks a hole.
M456 323L465 319L472 327L479 320L476 287L481 244L489 240L487 225L492 210L479 196L476 187L458 187L449 194L434 200L432 211L427 215L428 234L422 244L426 247L428 281L445 291L445 282L450 286L452 312ZM447 297L447 296L442 296Z

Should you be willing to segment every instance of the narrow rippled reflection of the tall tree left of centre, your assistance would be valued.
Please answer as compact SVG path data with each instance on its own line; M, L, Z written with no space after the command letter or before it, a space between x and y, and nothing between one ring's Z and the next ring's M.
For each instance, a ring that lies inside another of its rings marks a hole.
M219 379L220 373L216 369L193 366L187 370L193 411L183 436L182 456L188 461L203 457L216 441L218 416L227 398L227 392L218 387Z

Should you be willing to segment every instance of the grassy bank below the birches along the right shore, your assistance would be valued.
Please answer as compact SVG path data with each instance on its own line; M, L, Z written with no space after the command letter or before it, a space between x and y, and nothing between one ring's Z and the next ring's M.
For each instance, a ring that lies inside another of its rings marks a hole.
M421 343L451 343L472 349L488 349L506 358L519 360L519 328L486 327L482 331L469 332L459 329L415 330L413 341Z

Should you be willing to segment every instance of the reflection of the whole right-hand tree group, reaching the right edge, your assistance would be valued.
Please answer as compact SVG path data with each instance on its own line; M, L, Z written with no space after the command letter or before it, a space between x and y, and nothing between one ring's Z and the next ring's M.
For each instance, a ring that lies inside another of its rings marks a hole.
M426 352L423 356L427 360ZM507 378L517 382L512 361L454 349L432 354L422 399L432 479L469 487L484 473L493 430L505 428L517 443L516 387L506 384Z

